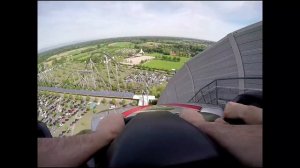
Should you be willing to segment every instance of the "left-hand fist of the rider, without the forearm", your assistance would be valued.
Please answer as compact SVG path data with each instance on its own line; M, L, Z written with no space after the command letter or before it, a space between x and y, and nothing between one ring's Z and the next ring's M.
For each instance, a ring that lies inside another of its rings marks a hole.
M124 128L125 122L123 115L111 112L99 122L95 133L105 138L107 143L109 143L115 139Z

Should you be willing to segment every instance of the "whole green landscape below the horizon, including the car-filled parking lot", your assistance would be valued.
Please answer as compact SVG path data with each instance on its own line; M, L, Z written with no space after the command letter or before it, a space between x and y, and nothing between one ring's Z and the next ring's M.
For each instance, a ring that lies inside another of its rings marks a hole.
M38 119L55 137L90 131L94 115L137 106L138 100L130 96L152 95L157 101L176 71L212 44L187 38L124 37L39 53L38 86L46 90L38 92ZM107 96L87 96L79 91L103 91Z

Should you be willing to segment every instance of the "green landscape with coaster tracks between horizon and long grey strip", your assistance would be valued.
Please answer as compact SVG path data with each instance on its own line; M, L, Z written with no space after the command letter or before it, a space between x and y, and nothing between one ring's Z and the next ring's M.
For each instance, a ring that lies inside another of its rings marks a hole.
M39 54L38 85L140 93L141 88L147 89L145 82L148 81L128 82L125 78L130 74L143 76L157 73L170 78L174 70L179 70L185 62L211 44L180 38L136 37L67 46ZM139 54L141 50L143 53ZM149 58L144 58L146 56ZM130 63L132 61L140 62ZM151 82L149 85L148 89L161 85L161 82Z

